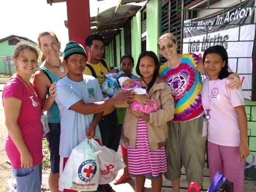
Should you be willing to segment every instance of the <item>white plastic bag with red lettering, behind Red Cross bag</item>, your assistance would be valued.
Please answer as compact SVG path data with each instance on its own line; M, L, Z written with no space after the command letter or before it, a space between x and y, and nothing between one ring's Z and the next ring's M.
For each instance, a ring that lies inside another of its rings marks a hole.
M99 145L94 139L91 139L91 145L94 153L97 154L100 164L100 184L112 182L116 178L118 171L125 167L124 163L113 149Z

